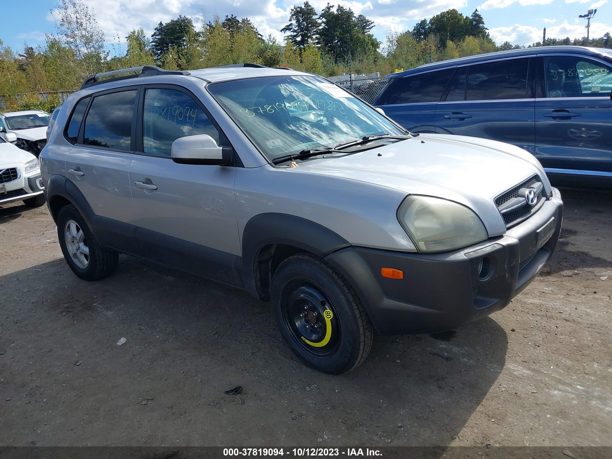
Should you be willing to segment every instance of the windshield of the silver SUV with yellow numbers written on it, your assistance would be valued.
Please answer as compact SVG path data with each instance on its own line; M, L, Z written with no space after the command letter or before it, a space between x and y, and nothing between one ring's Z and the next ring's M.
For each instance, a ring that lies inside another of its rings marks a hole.
M366 135L404 135L349 92L315 76L209 84L209 91L268 160Z

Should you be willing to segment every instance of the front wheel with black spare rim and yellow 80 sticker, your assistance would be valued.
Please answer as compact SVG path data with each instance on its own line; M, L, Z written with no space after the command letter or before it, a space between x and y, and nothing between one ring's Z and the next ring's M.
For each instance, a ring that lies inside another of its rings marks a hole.
M341 375L370 353L370 318L354 289L322 259L294 255L272 278L272 304L283 338L313 368Z

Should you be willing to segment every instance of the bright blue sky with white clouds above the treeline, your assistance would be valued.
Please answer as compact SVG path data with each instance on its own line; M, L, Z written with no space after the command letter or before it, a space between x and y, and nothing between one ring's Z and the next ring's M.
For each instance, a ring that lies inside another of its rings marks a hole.
M250 17L263 35L282 38L280 29L288 22L289 10L297 2L290 0L83 0L95 12L108 43L125 37L132 28L142 27L151 33L159 21L168 21L179 14L210 20L234 14ZM310 0L318 12L327 0ZM586 34L586 21L578 15L597 8L591 21L591 37L612 31L612 0L354 0L330 1L351 7L376 23L373 33L384 41L390 31L410 29L417 21L449 8L471 14L478 8L491 36L498 44L508 40L528 45L540 40L542 29L547 37L579 38ZM14 50L44 45L45 34L53 32L55 21L51 11L56 0L27 0L27 15L21 2L5 2L2 6L0 40Z

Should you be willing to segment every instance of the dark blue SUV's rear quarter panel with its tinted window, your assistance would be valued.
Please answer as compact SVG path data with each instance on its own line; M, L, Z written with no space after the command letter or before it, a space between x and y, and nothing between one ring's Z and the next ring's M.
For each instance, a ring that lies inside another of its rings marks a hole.
M435 132L434 119L444 88L454 67L392 78L383 105L384 113L411 132Z

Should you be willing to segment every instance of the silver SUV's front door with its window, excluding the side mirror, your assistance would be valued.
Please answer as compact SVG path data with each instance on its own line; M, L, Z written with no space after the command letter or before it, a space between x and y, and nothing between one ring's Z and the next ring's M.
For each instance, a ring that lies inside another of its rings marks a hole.
M200 102L182 88L144 86L142 140L130 166L141 256L236 284L241 255L234 166L173 162L179 137L208 134L225 143ZM139 135L140 140L140 135ZM212 262L212 263L208 263ZM227 269L222 269L225 267Z

